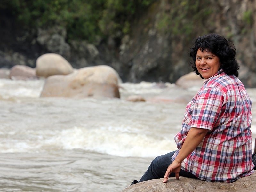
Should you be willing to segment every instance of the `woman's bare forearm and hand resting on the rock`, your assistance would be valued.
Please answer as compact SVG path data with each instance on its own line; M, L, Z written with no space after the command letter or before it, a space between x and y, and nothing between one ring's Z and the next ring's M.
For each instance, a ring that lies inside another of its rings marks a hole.
M168 177L170 173L175 173L176 179L179 179L179 172L181 169L181 163L182 161L190 154L194 149L201 143L201 141L204 139L206 133L208 132L208 129L201 129L201 128L195 128L191 127L191 129L188 131L187 137L180 149L179 154L175 158L175 160L170 164L170 166L167 168L163 182L166 183L168 180Z

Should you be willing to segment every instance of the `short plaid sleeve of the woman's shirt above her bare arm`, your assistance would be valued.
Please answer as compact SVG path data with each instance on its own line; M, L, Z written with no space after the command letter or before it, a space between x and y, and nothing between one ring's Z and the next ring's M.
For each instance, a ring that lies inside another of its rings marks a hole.
M221 113L223 94L214 88L205 88L198 94L192 112L191 127L213 130Z

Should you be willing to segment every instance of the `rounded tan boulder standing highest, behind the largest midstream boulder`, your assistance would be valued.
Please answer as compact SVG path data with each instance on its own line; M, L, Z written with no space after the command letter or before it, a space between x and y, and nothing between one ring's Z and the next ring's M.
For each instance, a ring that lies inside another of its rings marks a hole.
M36 60L36 75L49 77L52 75L67 75L73 72L73 67L61 55L46 53Z

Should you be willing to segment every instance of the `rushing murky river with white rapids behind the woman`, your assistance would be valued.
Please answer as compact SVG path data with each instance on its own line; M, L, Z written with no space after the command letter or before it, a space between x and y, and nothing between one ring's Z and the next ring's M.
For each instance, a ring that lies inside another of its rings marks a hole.
M40 98L43 85L0 79L0 191L122 191L176 149L173 136L199 89L122 83L121 99ZM256 89L247 92L254 145Z

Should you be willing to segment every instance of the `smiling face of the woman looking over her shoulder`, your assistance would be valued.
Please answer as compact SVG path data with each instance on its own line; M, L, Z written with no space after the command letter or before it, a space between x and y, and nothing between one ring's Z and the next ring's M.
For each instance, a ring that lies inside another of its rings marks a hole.
M215 75L220 69L220 58L211 52L197 50L196 68L204 79Z

